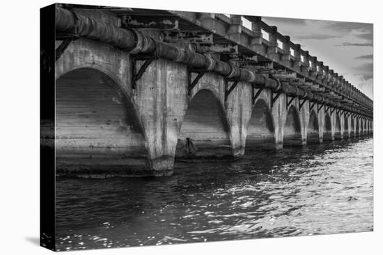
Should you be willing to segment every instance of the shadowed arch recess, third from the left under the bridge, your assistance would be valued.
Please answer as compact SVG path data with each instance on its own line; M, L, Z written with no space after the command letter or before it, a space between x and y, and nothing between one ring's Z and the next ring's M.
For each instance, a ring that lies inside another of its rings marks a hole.
M259 149L275 149L274 122L264 99L258 99L247 126L245 153Z

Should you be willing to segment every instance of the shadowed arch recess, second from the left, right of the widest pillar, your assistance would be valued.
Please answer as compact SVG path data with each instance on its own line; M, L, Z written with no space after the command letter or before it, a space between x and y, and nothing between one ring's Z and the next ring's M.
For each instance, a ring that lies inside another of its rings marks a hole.
M178 135L175 158L233 156L229 126L217 96L199 90L189 103Z

